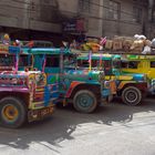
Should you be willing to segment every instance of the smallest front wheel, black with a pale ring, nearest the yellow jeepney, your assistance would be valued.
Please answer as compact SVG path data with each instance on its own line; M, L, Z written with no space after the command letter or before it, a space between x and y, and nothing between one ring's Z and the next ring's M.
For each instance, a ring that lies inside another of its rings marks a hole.
M128 86L122 92L122 101L130 106L138 105L142 101L142 92L135 86Z

